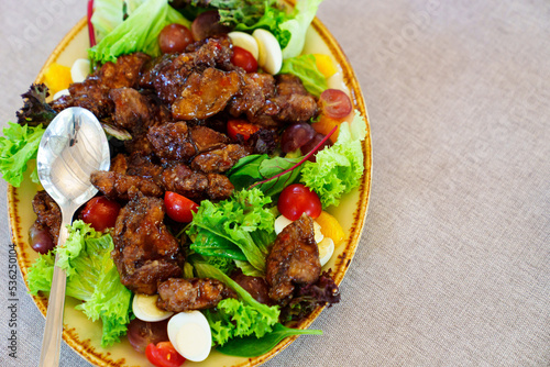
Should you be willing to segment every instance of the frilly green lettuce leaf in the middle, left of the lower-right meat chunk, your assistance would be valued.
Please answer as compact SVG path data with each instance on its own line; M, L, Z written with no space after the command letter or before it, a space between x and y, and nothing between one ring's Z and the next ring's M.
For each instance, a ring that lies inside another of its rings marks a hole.
M245 260L263 273L267 247L275 240L271 202L258 189L238 191L218 203L204 200L187 230L191 248L201 255Z

